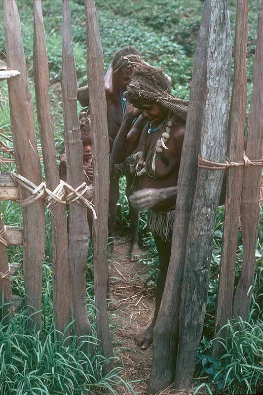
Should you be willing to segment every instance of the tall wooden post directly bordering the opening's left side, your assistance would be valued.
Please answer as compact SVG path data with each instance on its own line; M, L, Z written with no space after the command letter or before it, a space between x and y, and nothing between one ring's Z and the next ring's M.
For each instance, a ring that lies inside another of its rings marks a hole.
M94 0L85 0L87 26L87 77L92 130L92 161L97 219L93 221L93 265L97 333L102 355L113 355L107 319L108 210L110 188L109 137L107 103L104 89L104 66L101 37ZM107 369L113 368L113 362Z

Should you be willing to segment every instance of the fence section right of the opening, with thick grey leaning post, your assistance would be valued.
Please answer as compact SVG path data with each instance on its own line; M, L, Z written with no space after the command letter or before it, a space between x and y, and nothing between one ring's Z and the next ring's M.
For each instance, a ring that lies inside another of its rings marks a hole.
M246 144L248 0L237 1L235 66L228 128L225 124L231 45L227 8L226 0L206 0L204 3L180 164L171 259L153 331L150 393L171 384L178 390L190 388L192 383L206 312L213 247L211 226L214 226L223 171L227 188L215 337L227 319L236 316L246 319L251 307L263 166L263 0L259 0L253 95ZM228 133L227 149L225 129ZM234 293L240 216L243 265ZM224 337L225 332L221 331L219 336ZM214 357L220 356L220 352L220 343L215 341Z

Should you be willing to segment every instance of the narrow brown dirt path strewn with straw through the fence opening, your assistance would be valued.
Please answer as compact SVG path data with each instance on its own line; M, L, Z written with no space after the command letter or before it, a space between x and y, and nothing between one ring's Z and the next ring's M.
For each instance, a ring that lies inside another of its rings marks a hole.
M120 348L118 353L125 367L123 379L140 380L133 383L137 395L147 394L146 381L150 377L152 346L142 350L136 345L135 337L150 324L153 316L154 287L148 286L146 268L141 262L129 261L130 242L127 237L117 237L114 253L111 256L111 277L113 294L121 306L113 311L116 324L113 345ZM130 394L120 390L120 395Z

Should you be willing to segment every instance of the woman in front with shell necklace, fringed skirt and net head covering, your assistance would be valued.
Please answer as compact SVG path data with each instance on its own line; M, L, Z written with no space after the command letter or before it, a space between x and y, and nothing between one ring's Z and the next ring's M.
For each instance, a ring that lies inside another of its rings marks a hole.
M148 227L154 235L160 269L153 320L138 336L138 344L146 349L152 341L170 260L188 102L170 94L170 83L161 70L145 65L136 67L127 99L126 114L113 144L113 162L120 163L136 152L134 189L138 192L130 200L139 209L151 207Z

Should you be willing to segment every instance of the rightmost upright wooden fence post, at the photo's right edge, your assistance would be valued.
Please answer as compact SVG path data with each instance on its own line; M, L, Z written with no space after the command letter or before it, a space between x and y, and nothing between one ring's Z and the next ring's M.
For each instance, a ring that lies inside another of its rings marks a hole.
M263 156L263 0L259 1L258 38L256 46L253 93L248 116L246 156L260 159ZM246 319L252 299L255 275L255 248L259 225L259 196L262 167L244 169L241 198L241 228L243 236L243 267L233 304L233 315Z

